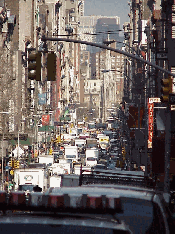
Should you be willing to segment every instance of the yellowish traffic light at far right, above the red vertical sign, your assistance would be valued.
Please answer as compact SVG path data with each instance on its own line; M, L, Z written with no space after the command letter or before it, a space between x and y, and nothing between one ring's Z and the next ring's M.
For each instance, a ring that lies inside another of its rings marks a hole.
M167 79L161 80L161 102L169 102L169 94L172 93L172 77L169 76Z

